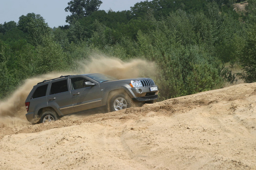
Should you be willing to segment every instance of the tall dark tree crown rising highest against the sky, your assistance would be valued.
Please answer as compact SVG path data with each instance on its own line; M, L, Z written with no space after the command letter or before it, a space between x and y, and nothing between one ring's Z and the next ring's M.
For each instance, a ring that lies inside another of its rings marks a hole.
M87 17L94 11L99 9L102 4L100 0L72 0L65 8L66 12L71 12L70 16L66 17L66 22L72 23L77 19Z

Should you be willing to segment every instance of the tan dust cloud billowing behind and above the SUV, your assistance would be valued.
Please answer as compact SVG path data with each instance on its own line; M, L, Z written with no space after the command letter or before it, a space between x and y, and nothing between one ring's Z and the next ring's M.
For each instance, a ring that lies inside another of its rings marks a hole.
M26 79L11 96L0 102L0 128L29 125L25 114L25 100L31 89L38 82L59 77L61 75L103 73L113 77L132 78L139 76L154 75L156 68L153 62L134 59L129 62L122 62L117 58L110 58L102 55L94 55L89 60L77 62L80 67L73 73L49 73L36 78Z

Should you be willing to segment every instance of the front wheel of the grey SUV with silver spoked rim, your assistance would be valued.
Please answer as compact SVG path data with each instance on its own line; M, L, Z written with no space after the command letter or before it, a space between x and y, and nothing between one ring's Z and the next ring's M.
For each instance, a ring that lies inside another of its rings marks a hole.
M127 97L125 95L114 95L111 97L109 105L108 105L108 111L118 111L126 108L130 108L133 106L132 99L130 97Z

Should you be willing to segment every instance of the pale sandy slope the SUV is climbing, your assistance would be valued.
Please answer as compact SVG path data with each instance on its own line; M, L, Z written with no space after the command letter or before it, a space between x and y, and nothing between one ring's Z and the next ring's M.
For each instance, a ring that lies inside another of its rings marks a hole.
M255 89L3 127L0 169L256 169Z

